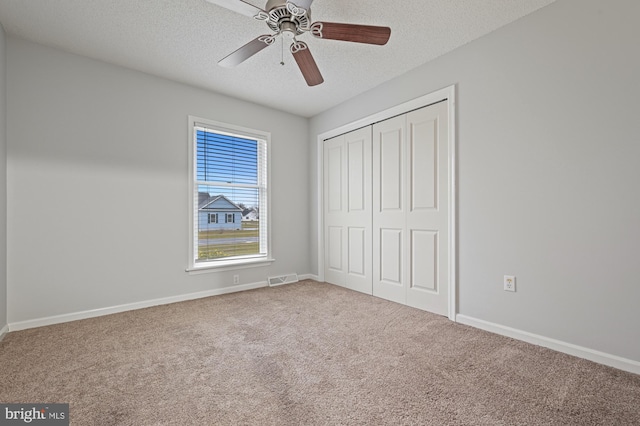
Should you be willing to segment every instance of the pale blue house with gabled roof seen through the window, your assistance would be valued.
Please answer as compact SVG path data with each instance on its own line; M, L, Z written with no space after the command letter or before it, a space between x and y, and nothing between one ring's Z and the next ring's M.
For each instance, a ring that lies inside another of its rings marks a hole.
M224 195L198 193L198 229L240 229L242 208Z

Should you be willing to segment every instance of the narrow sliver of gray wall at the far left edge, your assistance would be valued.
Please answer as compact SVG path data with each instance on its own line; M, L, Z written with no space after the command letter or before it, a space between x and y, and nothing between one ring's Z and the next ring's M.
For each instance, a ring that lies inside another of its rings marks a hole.
M7 110L5 35L0 25L0 330L7 325Z

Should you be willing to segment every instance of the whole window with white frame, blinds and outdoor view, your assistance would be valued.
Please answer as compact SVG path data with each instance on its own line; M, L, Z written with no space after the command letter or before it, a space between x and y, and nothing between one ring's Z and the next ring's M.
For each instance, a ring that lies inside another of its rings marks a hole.
M189 117L189 271L271 261L269 134ZM242 221L245 211L259 219Z

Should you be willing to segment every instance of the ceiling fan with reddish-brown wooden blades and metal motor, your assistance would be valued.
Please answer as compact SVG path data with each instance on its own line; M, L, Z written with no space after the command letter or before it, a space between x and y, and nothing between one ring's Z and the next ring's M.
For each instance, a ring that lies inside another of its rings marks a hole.
M251 40L235 52L218 62L223 67L235 67L262 49L271 46L278 36L290 40L289 50L298 64L309 86L324 81L313 59L309 46L296 39L309 32L317 38L384 45L389 41L391 28L373 25L339 24L335 22L311 23L311 3L313 0L268 0L264 9L243 0L207 0L242 15L264 21L275 34L265 34Z

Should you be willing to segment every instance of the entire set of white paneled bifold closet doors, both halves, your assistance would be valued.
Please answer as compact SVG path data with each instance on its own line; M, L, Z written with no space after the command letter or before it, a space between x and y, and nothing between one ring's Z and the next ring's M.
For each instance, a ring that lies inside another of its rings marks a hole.
M324 141L325 281L448 314L448 102Z

